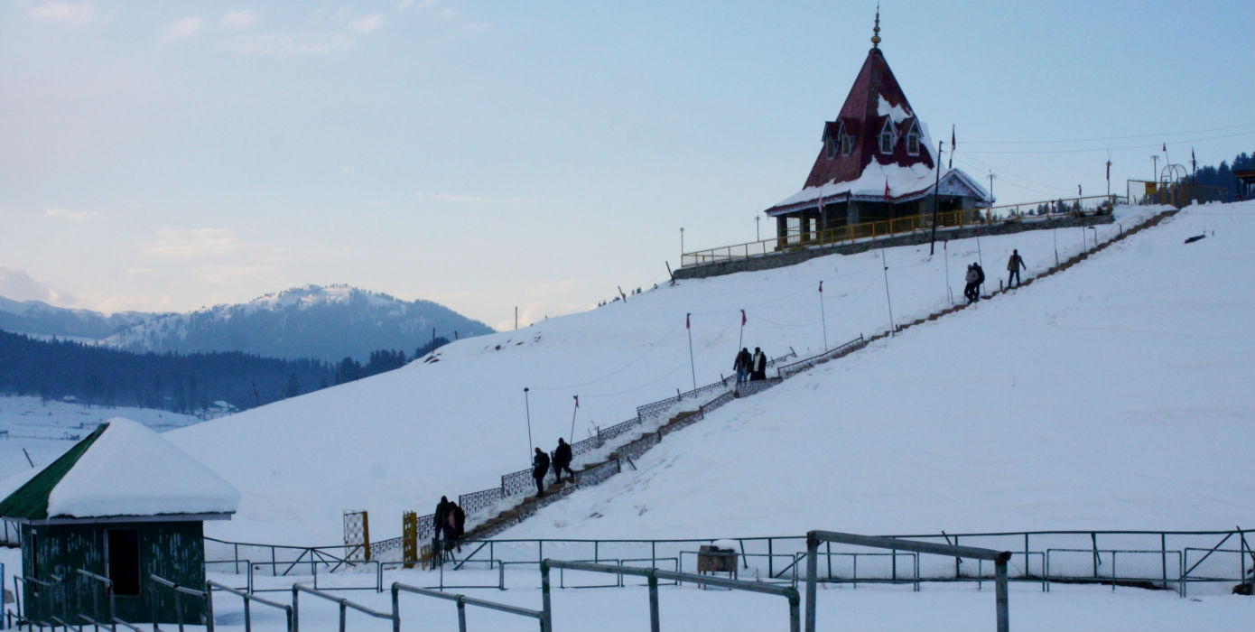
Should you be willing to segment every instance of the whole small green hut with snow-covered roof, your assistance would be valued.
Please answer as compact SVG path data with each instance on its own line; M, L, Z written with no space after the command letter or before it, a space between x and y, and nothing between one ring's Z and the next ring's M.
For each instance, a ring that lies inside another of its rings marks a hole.
M157 433L108 420L0 500L20 529L24 618L105 622L112 589L113 617L178 621L173 591L151 576L203 589L203 520L231 519L238 504L230 483ZM182 621L203 623L201 599L181 601Z

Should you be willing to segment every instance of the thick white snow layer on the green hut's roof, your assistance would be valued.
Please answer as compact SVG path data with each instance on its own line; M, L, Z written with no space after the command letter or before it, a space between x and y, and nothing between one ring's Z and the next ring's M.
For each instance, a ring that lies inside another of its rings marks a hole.
M48 495L49 517L233 513L240 492L148 428L108 428Z

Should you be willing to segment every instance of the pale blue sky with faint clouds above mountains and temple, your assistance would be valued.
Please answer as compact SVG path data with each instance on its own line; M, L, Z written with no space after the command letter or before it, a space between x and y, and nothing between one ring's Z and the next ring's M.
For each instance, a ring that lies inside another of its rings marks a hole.
M502 329L582 310L663 281L680 227L686 250L754 240L873 13L5 1L0 296L183 311L345 282ZM881 26L999 202L1103 193L1108 147L1119 193L1165 142L1255 152L1249 0L886 0Z

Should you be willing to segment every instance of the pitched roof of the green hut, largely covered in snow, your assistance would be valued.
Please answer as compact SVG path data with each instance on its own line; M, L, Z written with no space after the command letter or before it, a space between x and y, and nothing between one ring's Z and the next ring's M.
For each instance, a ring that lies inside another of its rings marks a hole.
M0 517L226 518L240 492L148 428L113 418L0 500Z

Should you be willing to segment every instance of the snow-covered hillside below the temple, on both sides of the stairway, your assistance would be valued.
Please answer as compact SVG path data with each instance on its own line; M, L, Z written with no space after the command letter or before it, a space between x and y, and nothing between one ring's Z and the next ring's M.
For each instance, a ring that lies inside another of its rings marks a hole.
M1119 213L1127 226L1148 211ZM1202 227L1217 236L1180 246ZM926 246L890 248L896 320L948 305L946 261L960 296L968 262L983 258L996 280L1019 248L1032 275L1054 262L1055 241L1065 258L1086 232L984 237L979 252L956 241L931 258ZM635 477L576 493L508 534L1249 524L1255 405L1239 385L1255 376L1252 233L1250 204L1192 209L1018 296L729 405L669 436ZM1237 282L1196 282L1221 263ZM576 394L579 439L688 390L693 372L698 384L727 375L742 308L744 346L773 356L814 352L825 334L835 345L882 331L881 251L659 287L168 438L242 493L235 520L208 524L211 535L334 543L341 512L368 509L373 537L390 537L403 510L425 513L442 494L496 487L527 466L525 386L538 445L569 434ZM699 494L737 502L694 515L685 507ZM615 519L585 519L594 512Z

